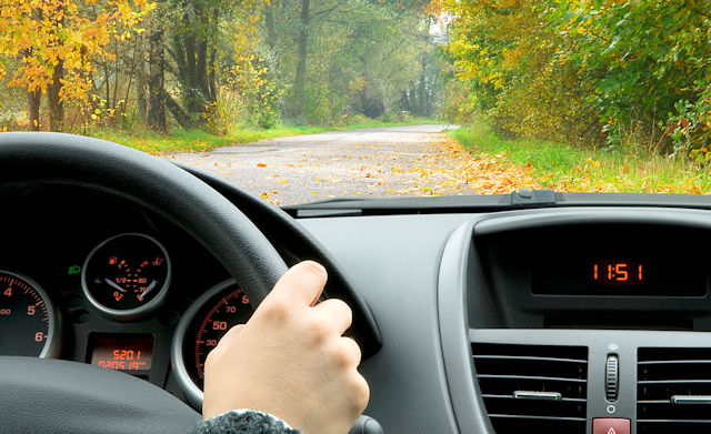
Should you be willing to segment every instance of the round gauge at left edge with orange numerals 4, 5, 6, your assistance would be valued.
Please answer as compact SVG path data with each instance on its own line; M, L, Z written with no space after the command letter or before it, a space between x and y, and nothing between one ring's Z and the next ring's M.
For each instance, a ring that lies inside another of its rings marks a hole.
M57 315L29 277L0 271L0 355L57 355Z

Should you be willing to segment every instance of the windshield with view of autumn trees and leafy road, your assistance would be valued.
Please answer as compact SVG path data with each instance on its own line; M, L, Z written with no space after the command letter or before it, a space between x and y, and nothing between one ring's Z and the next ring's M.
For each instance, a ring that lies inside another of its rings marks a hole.
M4 0L0 130L278 205L711 191L707 0Z

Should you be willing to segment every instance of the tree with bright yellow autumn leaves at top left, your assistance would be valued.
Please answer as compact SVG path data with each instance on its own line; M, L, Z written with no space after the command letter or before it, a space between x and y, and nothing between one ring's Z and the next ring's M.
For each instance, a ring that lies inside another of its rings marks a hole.
M86 9L98 10L94 19ZM93 60L112 58L112 38L130 38L148 0L6 0L0 6L0 58L18 58L10 85L28 92L32 129L40 128L41 94L48 94L50 128L63 127L66 101L86 101ZM7 73L0 62L0 75Z

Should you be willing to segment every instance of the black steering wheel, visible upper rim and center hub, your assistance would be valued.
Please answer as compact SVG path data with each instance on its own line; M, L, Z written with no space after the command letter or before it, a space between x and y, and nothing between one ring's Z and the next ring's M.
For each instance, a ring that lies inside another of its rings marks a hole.
M287 271L240 210L204 182L157 157L60 133L1 133L0 183L56 182L127 198L198 240L257 307ZM2 431L180 433L200 415L128 374L58 360L0 357Z

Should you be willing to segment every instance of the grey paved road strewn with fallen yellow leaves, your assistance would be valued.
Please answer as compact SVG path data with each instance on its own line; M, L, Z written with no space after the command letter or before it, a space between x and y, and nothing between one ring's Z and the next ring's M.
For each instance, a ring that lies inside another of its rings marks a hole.
M213 166L229 166L219 173L241 180L239 185L277 205L334 196L498 194L541 186L530 165L513 164L505 153L473 155L443 134L429 134L422 141L308 150L303 153L300 149L291 160L284 160L292 157L287 150L262 154L257 161L247 155L208 161ZM250 172L254 166L268 169L254 176Z

